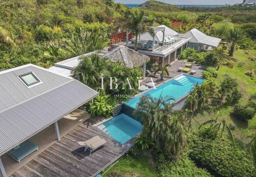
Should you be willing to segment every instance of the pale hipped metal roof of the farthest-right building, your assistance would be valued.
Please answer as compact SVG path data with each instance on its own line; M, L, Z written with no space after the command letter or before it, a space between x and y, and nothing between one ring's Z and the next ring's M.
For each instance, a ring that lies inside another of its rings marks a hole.
M195 28L187 31L185 34L180 35L182 37L192 37L191 41L189 42L200 43L211 47L218 47L219 43L221 42L221 39L208 36Z

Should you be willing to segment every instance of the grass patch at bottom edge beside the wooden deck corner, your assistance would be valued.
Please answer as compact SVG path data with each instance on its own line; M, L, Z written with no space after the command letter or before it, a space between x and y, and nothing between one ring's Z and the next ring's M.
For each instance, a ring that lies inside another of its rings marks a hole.
M111 171L119 171L124 177L139 176L139 177L157 177L157 172L153 167L152 160L149 160L145 154L139 159L135 159L131 155L124 156L119 162L111 167L104 175L108 176ZM106 171L105 170L105 171ZM104 171L102 172L104 173Z

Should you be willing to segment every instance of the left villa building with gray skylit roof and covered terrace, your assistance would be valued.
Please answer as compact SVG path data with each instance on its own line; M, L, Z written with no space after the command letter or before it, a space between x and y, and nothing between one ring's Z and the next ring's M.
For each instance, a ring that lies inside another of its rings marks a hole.
M0 72L0 90L3 177L7 176L5 168L11 175L52 145L54 139L60 140L61 134L81 124L63 117L98 96L98 92L72 77L32 64ZM56 136L52 138L49 132L54 129Z

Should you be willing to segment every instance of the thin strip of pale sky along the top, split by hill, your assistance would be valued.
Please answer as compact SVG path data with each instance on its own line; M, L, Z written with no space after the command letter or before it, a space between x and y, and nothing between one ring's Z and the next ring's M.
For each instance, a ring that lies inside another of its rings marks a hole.
M123 4L142 4L147 0L115 0L115 2L123 3ZM161 2L169 3L169 4L236 4L242 3L243 0L158 0Z

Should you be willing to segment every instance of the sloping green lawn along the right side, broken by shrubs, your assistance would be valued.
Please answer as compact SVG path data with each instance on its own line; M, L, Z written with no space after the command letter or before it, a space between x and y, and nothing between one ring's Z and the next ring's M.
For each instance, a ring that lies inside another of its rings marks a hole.
M245 103L248 100L248 97L256 92L256 77L251 79L250 76L247 76L245 72L248 70L254 69L256 70L256 61L251 61L248 59L249 56L256 57L256 50L250 50L250 54L245 54L244 50L236 50L234 53L234 60L229 60L229 62L234 64L233 68L229 68L228 66L221 65L218 71L217 80L220 82L223 80L224 74L228 73L232 76L237 77L237 80L240 83L241 90L243 92L243 98L241 102ZM237 66L239 62L244 62L245 65L243 67ZM193 127L197 128L211 118L214 118L217 111L220 111L220 115L222 115L227 124L236 125L236 129L233 130L233 134L235 135L236 142L244 147L247 151L249 151L249 142L251 138L247 138L252 131L256 129L256 116L252 120L249 121L240 121L234 116L232 116L232 107L233 105L223 104L219 108L212 110L213 107L206 107L200 113L197 114L196 118L193 121ZM254 129L252 129L254 128Z

